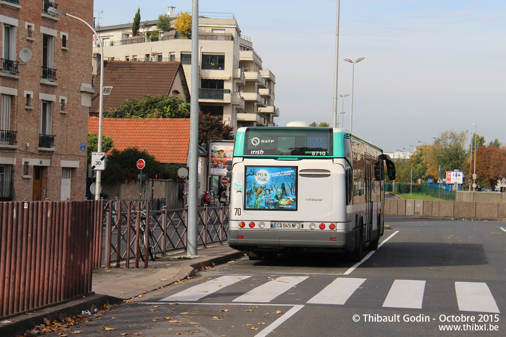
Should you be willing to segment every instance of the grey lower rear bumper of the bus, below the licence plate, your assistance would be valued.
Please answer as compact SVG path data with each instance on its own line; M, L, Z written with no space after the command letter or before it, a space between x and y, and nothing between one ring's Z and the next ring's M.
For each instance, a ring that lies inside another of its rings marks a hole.
M228 246L234 249L247 251L352 252L356 247L357 230L332 232L229 229L227 242Z

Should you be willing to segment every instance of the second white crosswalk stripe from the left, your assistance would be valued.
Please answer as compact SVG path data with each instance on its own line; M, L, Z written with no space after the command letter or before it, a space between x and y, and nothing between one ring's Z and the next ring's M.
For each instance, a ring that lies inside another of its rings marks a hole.
M264 283L232 302L270 302L294 285L304 281L308 276L282 276Z

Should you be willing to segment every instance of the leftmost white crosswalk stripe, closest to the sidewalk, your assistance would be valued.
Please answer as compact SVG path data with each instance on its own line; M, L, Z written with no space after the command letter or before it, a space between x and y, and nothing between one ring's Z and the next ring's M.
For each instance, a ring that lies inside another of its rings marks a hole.
M202 297L217 292L227 285L242 281L251 276L221 276L214 280L194 285L180 293L163 298L160 301L178 302L178 301L197 301Z

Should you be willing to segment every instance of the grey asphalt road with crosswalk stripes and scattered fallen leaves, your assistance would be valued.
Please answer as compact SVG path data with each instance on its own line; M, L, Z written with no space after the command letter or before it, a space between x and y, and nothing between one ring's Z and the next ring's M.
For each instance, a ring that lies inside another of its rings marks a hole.
M461 329L504 335L503 222L387 222L387 241L360 264L335 254L245 257L118 306L79 330L110 325L117 328L110 335L450 336L463 332L442 329Z

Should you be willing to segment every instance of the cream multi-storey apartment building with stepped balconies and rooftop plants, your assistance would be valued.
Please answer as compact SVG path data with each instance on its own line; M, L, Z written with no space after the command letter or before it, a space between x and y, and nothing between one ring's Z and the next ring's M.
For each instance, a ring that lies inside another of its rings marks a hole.
M175 17L174 7L168 15ZM241 126L273 126L275 76L263 68L251 39L241 34L234 14L199 14L199 56L193 62L192 40L176 31L159 32L156 21L141 21L140 34L132 24L96 27L105 60L142 62L180 61L191 89L191 67L199 67L199 111L222 116L237 130ZM94 53L100 53L98 44ZM192 93L193 94L193 93Z

